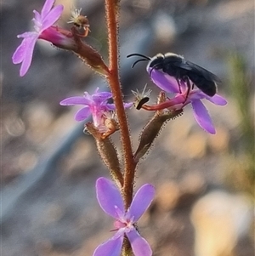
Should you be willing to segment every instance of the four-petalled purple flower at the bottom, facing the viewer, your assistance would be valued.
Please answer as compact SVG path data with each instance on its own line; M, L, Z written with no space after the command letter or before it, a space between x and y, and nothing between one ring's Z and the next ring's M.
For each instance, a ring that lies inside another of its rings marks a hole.
M100 207L105 213L116 219L116 234L108 241L100 244L95 249L93 256L119 256L125 235L135 256L151 256L152 251L149 243L139 235L134 224L149 208L155 195L154 187L150 184L140 187L133 196L133 202L127 211L124 208L121 192L111 180L99 178L96 182L96 192Z

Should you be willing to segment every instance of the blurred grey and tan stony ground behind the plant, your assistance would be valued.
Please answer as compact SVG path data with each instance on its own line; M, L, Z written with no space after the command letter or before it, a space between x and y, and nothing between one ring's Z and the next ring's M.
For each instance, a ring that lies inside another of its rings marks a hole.
M59 0L82 8L90 21L88 43L107 62L103 1ZM31 68L19 77L11 56L31 31L42 0L1 4L1 241L3 256L92 255L112 236L112 219L99 208L94 183L108 177L94 140L74 121L76 107L59 101L93 93L105 82L76 55L37 42ZM173 52L223 81L226 106L209 102L217 134L204 132L190 107L168 122L140 162L136 189L156 186L156 199L139 221L155 256L254 255L254 1L122 0L121 74L125 100L150 82L145 64L134 69L127 54ZM128 111L133 149L151 113ZM114 134L118 151L118 134Z

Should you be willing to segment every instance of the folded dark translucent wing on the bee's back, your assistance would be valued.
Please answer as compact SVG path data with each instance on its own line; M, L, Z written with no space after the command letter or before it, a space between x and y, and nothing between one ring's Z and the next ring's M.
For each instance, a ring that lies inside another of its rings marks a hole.
M195 72L198 76L205 77L209 81L221 82L216 75L212 74L210 71L207 71L200 65L190 62L189 60L184 60L181 63L178 63L178 67L186 71Z

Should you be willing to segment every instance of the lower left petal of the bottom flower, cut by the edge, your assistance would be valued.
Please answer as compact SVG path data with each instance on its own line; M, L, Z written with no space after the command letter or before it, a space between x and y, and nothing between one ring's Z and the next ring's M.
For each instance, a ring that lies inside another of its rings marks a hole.
M112 237L97 247L93 256L120 256L122 251L123 236Z

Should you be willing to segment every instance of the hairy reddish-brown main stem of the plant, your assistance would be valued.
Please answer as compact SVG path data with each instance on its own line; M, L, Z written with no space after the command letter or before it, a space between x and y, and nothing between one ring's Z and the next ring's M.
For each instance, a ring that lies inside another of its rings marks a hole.
M118 65L118 11L119 6L116 0L105 0L106 22L108 29L109 43L109 70L108 82L111 86L113 100L116 105L116 114L121 129L121 139L125 161L123 195L125 207L128 208L133 199L133 179L136 163L133 161L133 152L130 141L130 134L127 125L127 117L123 106L122 90L119 81Z

